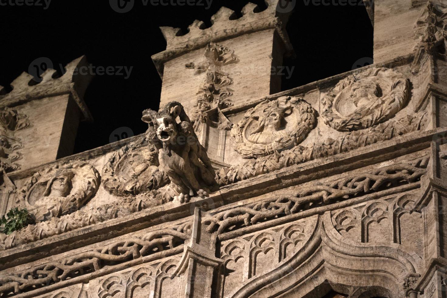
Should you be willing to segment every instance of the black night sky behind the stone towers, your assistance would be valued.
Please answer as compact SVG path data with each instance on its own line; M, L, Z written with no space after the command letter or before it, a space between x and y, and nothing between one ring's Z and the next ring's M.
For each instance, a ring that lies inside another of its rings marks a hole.
M7 1L16 0L0 4ZM144 6L135 0L128 13L114 12L107 0L52 0L47 9L1 5L0 85L9 85L39 57L65 65L87 55L94 66L132 66L128 79L96 76L89 85L84 100L95 121L81 123L75 153L109 143L112 131L122 126L140 134L146 129L141 111L156 109L160 98L161 80L151 60L166 46L158 27L187 27L194 19L209 23L221 6L240 12L248 2L212 0L205 9L206 4ZM283 62L295 66L289 79L283 77L283 90L349 71L358 59L372 57L372 25L364 6L305 3L296 0L287 25L297 58Z

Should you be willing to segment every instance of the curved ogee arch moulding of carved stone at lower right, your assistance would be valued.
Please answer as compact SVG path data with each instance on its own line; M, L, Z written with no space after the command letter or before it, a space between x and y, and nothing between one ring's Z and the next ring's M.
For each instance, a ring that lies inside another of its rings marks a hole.
M333 226L329 212L316 215L312 227L302 248L290 258L280 261L273 270L250 278L226 297L308 293L326 282L353 298L366 297L367 287L377 293L389 289L386 296L401 298L408 290L405 282L410 277L419 277L418 260L397 243L359 243L346 239Z

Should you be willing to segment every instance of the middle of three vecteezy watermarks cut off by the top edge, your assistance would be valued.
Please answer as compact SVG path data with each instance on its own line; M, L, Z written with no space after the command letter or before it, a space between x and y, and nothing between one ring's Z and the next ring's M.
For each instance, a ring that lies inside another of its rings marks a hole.
M210 9L213 0L141 0L143 6L204 6ZM110 7L117 13L128 13L135 0L109 0Z

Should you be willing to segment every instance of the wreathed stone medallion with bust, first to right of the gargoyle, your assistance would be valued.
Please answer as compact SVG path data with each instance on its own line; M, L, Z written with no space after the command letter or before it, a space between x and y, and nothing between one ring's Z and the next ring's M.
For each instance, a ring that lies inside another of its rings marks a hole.
M263 101L232 128L232 147L243 158L290 149L306 138L315 122L315 109L302 98L285 96Z

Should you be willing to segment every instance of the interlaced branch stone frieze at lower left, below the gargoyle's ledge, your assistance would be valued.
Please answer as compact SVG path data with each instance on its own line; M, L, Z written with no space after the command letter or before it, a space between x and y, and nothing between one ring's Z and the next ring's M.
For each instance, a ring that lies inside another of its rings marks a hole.
M4 275L0 277L0 295L18 294L34 290L42 285L57 283L82 275L91 275L105 267L110 269L110 266L116 266L130 260L140 259L142 261L141 259L145 256L157 253L163 255L168 250L179 253L183 250L184 242L190 238L190 230L191 223L185 222L171 228L152 231L139 237L128 236L104 247L90 249L75 256L53 260L30 269ZM138 276L134 276L130 283L132 283L131 288L133 287L133 290L135 290L135 287L142 285L144 281ZM114 290L123 289L122 294L125 294L125 287L119 278L105 280L103 286L105 288L98 291L98 294L103 295L103 297L109 297L107 294L110 295L112 286L115 287ZM116 291L114 292L116 293Z

